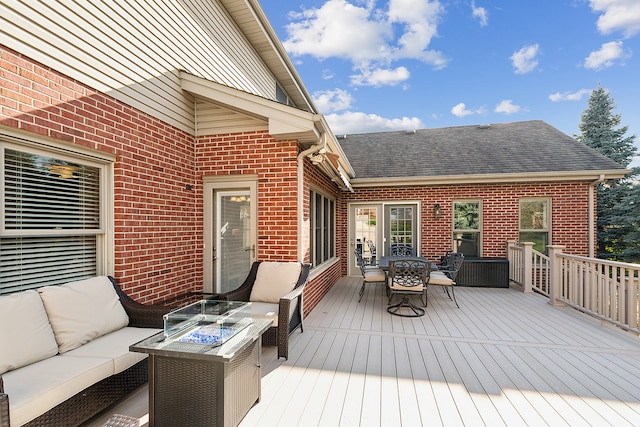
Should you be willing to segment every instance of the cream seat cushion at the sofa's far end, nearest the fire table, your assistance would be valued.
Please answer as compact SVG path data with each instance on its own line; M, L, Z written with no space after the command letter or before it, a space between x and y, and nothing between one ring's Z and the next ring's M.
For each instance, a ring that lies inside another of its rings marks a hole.
M112 373L119 374L147 357L144 353L129 351L129 346L158 332L162 332L162 329L127 326L68 351L65 356L111 358L113 360Z

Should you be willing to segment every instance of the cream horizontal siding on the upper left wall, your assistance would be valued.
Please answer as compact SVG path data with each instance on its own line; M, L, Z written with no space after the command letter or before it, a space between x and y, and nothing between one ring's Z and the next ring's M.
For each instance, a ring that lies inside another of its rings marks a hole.
M0 43L194 133L179 71L275 99L275 78L217 1L3 2Z

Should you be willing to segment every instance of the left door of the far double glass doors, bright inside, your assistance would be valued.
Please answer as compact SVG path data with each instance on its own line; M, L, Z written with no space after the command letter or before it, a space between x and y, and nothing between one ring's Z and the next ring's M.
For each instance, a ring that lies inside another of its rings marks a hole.
M352 205L349 210L350 250L349 274L358 275L360 269L355 258L355 250L362 253L367 264L375 265L380 256L378 248L382 243L382 205Z

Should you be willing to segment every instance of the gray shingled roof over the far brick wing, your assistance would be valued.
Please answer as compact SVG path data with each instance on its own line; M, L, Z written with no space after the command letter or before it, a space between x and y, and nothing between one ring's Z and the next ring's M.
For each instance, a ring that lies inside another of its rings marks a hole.
M623 170L541 120L339 136L355 178Z

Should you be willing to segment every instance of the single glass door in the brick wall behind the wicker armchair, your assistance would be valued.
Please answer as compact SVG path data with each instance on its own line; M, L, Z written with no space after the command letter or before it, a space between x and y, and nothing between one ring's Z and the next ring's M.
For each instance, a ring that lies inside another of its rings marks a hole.
M238 288L256 260L255 181L205 183L205 292Z

